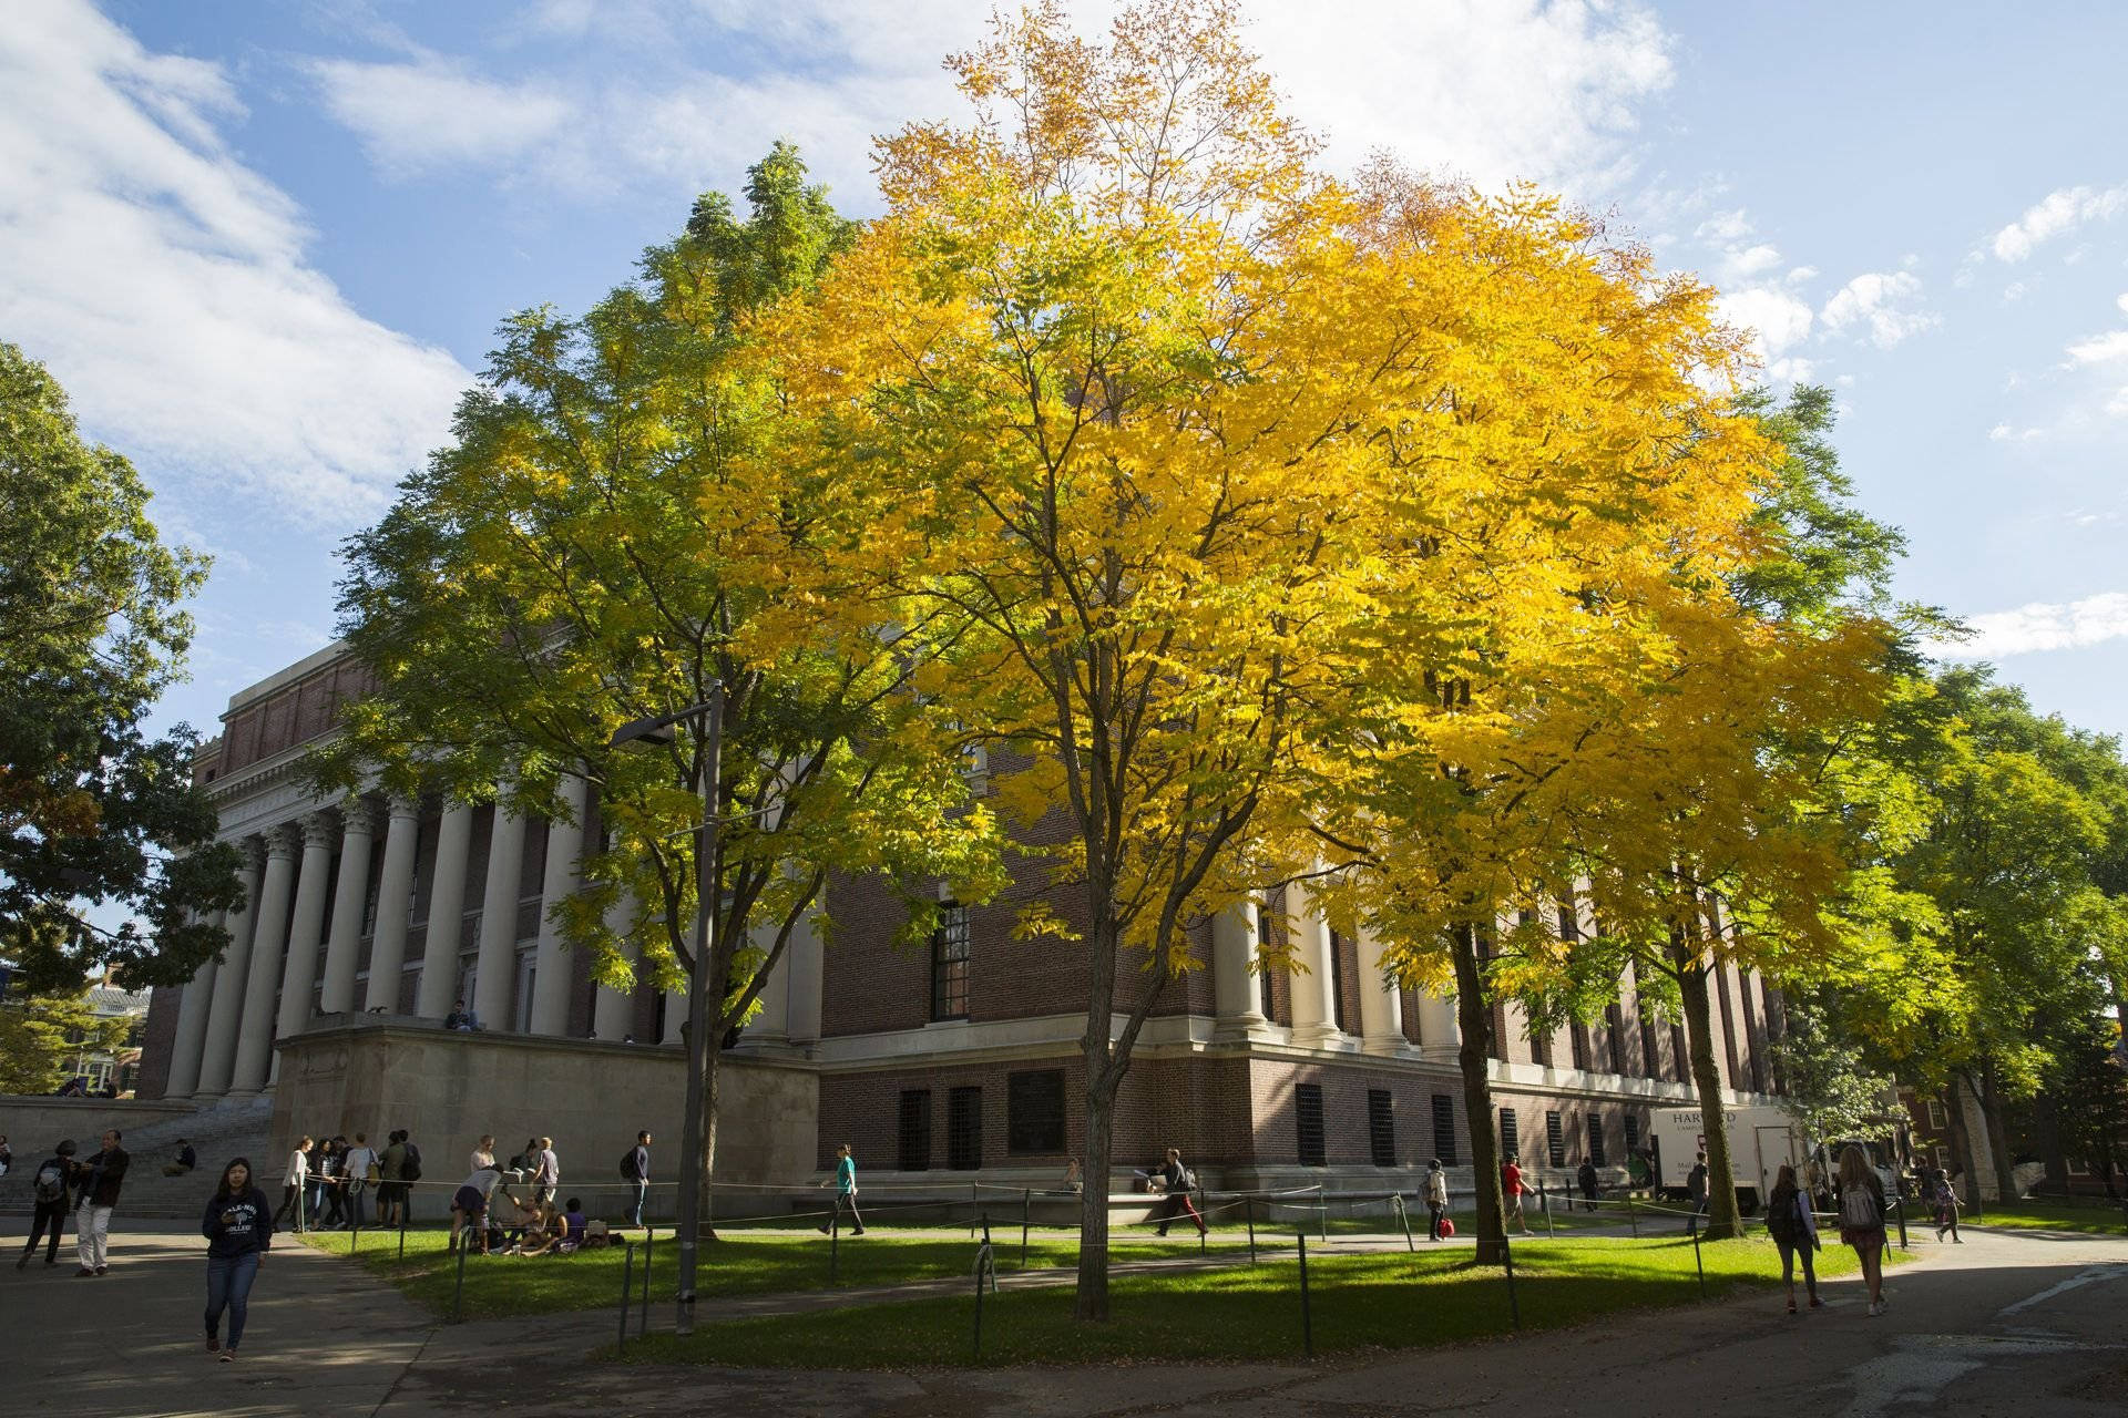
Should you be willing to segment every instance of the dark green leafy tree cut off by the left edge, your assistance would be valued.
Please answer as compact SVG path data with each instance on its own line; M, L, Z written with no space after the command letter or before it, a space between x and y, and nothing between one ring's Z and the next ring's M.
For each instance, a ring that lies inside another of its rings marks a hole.
M192 729L143 729L206 576L147 502L126 457L81 440L57 381L0 344L0 957L30 991L102 965L179 984L228 942L196 916L238 899ZM119 910L117 929L92 923Z

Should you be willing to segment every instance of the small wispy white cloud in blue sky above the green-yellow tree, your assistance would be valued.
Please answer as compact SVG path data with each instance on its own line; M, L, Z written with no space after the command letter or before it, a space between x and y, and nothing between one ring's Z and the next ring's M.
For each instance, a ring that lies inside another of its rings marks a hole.
M326 111L394 176L519 157L575 115L568 98L538 83L492 83L428 53L406 64L319 60L306 68Z

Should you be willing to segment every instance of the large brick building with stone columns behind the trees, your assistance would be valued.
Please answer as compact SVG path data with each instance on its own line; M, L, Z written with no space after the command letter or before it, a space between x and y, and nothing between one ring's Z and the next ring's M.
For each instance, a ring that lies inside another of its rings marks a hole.
M547 923L545 904L575 889L581 827L309 793L304 753L362 689L330 646L234 695L202 748L221 835L245 848L247 906L223 921L221 961L155 991L140 1095L257 1095L277 1040L358 1014L432 1023L458 999L489 1033L677 1050L685 997L594 986ZM596 806L585 816L596 831ZM879 1180L1053 1184L1083 1152L1079 959L1013 940L1009 904L949 904L928 950L894 944L900 912L881 882L836 882L832 944L794 938L734 1050L817 1078L815 1116L789 1125L821 1161L851 1142ZM1307 969L1251 969L1266 933ZM1194 946L1204 969L1158 1003L1124 1084L1119 1167L1166 1146L1228 1186L1409 1184L1428 1157L1468 1165L1451 1001L1385 986L1373 944L1332 931L1298 887L1200 923ZM1651 1108L1694 1103L1681 1027L1630 976L1622 993L1605 1020L1539 1037L1496 1008L1498 1116L1479 1125L1526 1163L1622 1167ZM1715 1001L1732 1101L1766 1101L1779 997L1724 967Z

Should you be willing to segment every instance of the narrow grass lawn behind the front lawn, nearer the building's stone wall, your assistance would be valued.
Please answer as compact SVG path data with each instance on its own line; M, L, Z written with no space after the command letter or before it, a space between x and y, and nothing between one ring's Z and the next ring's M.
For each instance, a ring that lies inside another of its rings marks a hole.
M1002 1231L994 1231L994 1237L998 1269L1015 1271L1019 1267L1017 1229L1011 1231L1009 1242ZM1247 1244L1236 1233L1215 1233L1215 1237L1213 1250ZM302 1239L328 1254L345 1256L349 1250L345 1231L311 1231ZM428 1305L434 1314L449 1314L451 1293L458 1284L458 1256L445 1248L447 1242L449 1231L445 1229L409 1231L406 1259L400 1261L396 1231L364 1231L355 1259L375 1276L396 1284L409 1299ZM1181 1235L1177 1239L1117 1237L1117 1242L1111 1254L1119 1261L1192 1259L1198 1254L1194 1235L1187 1239ZM641 1295L641 1246L636 1250L636 1295ZM466 1256L466 1318L617 1305L621 1299L621 1256L619 1248L579 1250L566 1256L470 1254ZM1036 1235L1028 1246L1028 1269L1077 1263L1077 1237ZM964 1278L972 1265L975 1244L966 1231L896 1233L875 1227L868 1235L843 1237L834 1284L879 1286ZM698 1288L704 1297L824 1290L828 1284L828 1242L811 1229L728 1229L721 1239L702 1246L700 1252ZM672 1233L664 1231L651 1248L651 1297L670 1299L677 1286L679 1248Z

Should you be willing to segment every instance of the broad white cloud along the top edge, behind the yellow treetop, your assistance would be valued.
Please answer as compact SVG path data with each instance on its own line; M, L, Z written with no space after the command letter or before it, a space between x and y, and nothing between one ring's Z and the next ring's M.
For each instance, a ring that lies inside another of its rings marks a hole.
M1070 11L1100 36L1115 4ZM747 74L645 64L649 77L626 85L506 87L434 55L313 72L387 172L462 164L568 189L632 170L698 185L734 176L781 134L849 202L870 189L872 134L955 111L938 60L977 43L985 13L966 0L549 0L532 15L547 34L655 47L662 60L743 49ZM1673 79L1670 36L1641 0L1364 0L1336 23L1275 0L1245 13L1243 40L1341 166L1392 149L1487 187L1594 187L1632 164L1636 108Z

